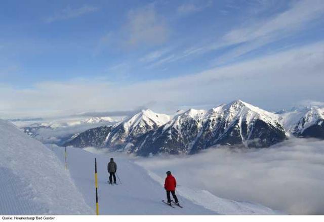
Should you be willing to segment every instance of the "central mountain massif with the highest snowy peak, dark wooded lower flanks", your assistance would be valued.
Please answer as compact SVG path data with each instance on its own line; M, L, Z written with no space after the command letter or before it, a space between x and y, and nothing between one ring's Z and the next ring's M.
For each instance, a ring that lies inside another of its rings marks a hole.
M190 109L142 137L135 152L193 154L214 145L269 147L286 139L279 116L240 100L214 109Z

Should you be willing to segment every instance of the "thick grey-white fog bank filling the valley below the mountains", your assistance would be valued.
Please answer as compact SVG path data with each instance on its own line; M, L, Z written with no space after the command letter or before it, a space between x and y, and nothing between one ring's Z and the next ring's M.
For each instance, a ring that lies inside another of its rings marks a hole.
M324 214L324 141L291 139L268 149L219 147L192 156L137 161L179 186L258 202L289 214Z

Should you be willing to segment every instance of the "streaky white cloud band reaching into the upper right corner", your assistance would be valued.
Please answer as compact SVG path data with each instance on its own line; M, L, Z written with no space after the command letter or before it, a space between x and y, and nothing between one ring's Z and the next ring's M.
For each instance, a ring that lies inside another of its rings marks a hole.
M225 63L229 59L244 55L270 42L294 35L322 16L324 16L323 1L301 0L285 12L229 31L209 50L241 44L216 59L217 64Z

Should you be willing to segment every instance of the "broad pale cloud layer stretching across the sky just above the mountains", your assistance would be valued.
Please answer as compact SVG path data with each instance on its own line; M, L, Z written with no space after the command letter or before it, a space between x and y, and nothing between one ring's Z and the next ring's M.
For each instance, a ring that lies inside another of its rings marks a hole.
M39 82L30 89L0 87L0 115L44 116L94 110L131 110L150 104L159 112L246 100L261 108L324 101L324 42L181 77L120 84L104 80ZM275 98L275 99L274 99Z

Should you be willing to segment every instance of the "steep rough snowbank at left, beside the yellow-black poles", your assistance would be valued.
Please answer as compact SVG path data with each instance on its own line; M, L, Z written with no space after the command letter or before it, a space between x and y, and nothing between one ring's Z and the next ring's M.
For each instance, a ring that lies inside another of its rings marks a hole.
M57 156L0 120L0 214L90 214Z

